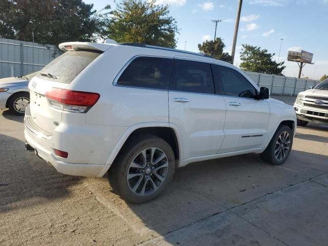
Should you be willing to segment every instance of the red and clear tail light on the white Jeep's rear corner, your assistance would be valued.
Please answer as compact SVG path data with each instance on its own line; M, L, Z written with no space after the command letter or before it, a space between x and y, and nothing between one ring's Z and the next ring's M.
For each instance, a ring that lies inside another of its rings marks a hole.
M85 91L72 91L52 88L46 92L50 104L65 111L85 113L95 105L100 97L98 93Z

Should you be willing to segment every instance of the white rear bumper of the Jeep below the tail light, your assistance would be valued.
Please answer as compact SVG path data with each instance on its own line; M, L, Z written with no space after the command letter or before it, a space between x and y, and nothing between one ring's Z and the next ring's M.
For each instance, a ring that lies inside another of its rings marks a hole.
M61 122L53 132L38 127L26 108L25 139L37 155L58 172L85 177L102 177L111 163L106 163L125 128L96 125L67 125ZM68 158L56 156L54 148L67 151Z

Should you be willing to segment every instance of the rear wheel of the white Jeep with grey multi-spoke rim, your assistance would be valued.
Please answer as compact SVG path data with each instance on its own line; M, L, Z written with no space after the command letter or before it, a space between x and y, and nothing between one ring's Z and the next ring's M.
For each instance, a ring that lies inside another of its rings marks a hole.
M115 193L132 203L153 200L171 182L174 153L162 138L138 135L129 140L108 172Z

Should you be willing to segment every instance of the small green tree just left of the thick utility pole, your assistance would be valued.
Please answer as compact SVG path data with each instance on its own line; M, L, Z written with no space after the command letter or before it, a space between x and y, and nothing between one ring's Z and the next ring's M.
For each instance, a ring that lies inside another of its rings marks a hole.
M210 55L215 59L228 61L231 63L232 57L228 52L223 52L224 45L221 38L217 37L214 40L206 40L203 44L198 44L198 49L202 54Z

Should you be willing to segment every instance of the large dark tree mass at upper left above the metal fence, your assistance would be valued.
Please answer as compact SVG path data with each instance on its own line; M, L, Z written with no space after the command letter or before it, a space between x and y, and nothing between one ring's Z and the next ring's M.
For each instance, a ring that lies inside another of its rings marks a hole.
M0 36L58 45L105 35L106 19L82 0L1 0Z

